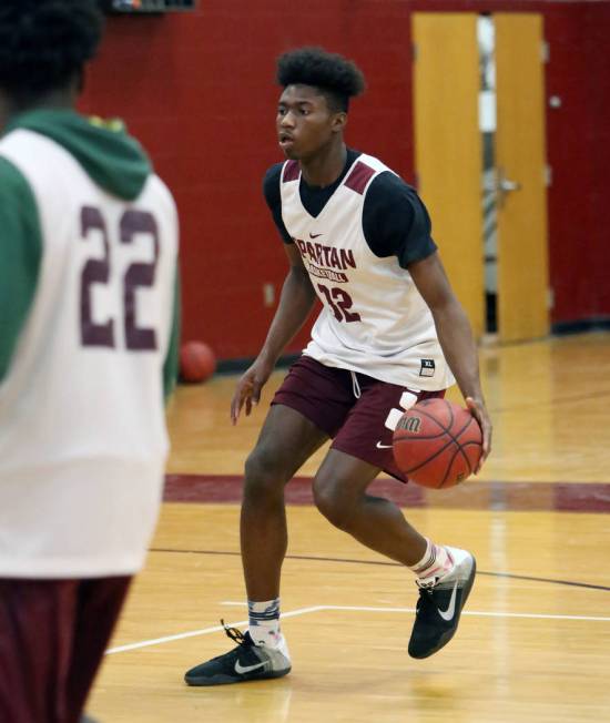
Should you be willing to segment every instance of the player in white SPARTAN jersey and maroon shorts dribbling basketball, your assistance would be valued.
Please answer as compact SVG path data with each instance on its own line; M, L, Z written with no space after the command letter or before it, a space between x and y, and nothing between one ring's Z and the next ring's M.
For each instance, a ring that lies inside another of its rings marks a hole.
M490 449L472 335L428 214L382 161L346 147L349 99L364 90L352 62L301 49L279 58L277 80L277 138L287 161L267 172L264 192L289 272L263 349L237 384L233 422L244 405L248 415L258 403L316 296L323 309L246 461L241 538L248 631L227 629L237 646L190 670L190 685L289 672L279 628L284 486L328 438L315 502L337 528L414 571L411 656L427 658L451 639L475 579L470 552L423 537L395 505L366 491L380 470L401 479L392 455L397 420L418 400L441 397L454 376L481 426L484 459Z

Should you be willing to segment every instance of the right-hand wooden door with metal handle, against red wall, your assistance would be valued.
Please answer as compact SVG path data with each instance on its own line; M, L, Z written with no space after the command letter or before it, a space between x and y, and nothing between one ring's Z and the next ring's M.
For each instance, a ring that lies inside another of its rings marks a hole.
M549 332L542 18L498 13L496 29L498 330Z

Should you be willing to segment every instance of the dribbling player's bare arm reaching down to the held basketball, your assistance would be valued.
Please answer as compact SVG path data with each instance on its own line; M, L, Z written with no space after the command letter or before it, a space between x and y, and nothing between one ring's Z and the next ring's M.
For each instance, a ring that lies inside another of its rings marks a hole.
M476 470L478 472L491 450L491 421L482 396L470 323L451 289L438 252L409 264L408 272L433 314L447 364L468 408L481 427L482 457Z

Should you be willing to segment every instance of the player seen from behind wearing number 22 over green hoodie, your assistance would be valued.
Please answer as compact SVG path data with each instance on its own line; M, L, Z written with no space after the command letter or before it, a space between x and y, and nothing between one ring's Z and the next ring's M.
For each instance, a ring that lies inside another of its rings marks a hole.
M74 109L96 0L0 3L0 721L77 723L160 507L177 221Z

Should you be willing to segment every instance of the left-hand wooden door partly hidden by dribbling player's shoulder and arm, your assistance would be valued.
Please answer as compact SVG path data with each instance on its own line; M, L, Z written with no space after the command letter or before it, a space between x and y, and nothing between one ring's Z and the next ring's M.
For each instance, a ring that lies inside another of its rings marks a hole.
M451 285L484 332L481 139L477 14L414 13L415 156Z

